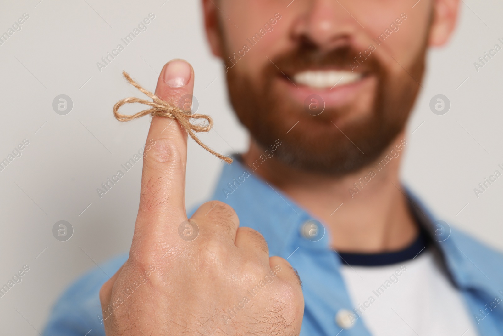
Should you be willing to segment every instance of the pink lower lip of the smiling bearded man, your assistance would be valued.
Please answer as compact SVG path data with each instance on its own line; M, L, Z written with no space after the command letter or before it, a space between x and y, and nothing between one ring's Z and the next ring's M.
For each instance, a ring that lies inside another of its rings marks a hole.
M375 83L375 77L365 76L357 82L336 85L331 89L319 89L294 84L287 78L281 78L280 82L282 82L282 86L286 86L290 96L300 104L304 104L308 96L318 95L323 99L325 107L338 108L355 101L357 96L363 93L364 90L372 89L372 86Z

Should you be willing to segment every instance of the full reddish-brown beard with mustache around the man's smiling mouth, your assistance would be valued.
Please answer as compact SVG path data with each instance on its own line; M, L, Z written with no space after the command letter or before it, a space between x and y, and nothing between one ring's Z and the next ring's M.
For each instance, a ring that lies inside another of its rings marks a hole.
M278 80L291 82L295 73L305 70L352 71L350 64L358 64L355 59L361 53L350 44L327 52L299 42L294 50L272 58L255 77L235 66L226 75L229 97L240 122L261 147L281 140L277 160L298 170L342 176L375 162L404 129L423 77L426 50L425 41L409 69L400 68L397 74L377 55L366 57L356 70L377 83L366 107L353 102L313 115L278 86ZM355 112L357 117L351 118ZM344 122L341 116L350 118Z

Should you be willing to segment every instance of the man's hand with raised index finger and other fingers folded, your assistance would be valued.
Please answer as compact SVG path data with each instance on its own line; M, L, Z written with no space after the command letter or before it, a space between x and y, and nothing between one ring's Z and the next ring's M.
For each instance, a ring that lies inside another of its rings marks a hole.
M182 108L193 88L192 67L173 60L155 94ZM100 291L106 334L298 334L298 276L285 259L269 257L262 235L240 228L234 210L219 201L188 221L187 134L179 123L154 117L147 143L129 258Z

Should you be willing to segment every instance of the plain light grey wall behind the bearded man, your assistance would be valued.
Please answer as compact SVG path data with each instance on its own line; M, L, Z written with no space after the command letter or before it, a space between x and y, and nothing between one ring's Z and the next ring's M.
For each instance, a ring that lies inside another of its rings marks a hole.
M223 153L247 145L227 101L223 68L205 41L198 1L39 1L0 5L0 34L23 13L30 16L0 46L0 160L23 139L30 142L0 172L0 286L24 264L30 267L22 282L0 298L3 334L42 332L51 305L72 280L129 248L141 162L101 199L96 191L143 146L148 129L148 118L120 123L112 114L119 99L140 94L121 77L122 70L153 91L166 61L187 59L196 72L199 112L215 120L201 139ZM416 0L403 3L408 14ZM100 72L96 62L149 13L155 19L147 31ZM452 41L430 52L402 169L403 180L448 223L499 249L503 177L478 198L473 188L503 165L503 51L478 73L473 62L494 44L503 46L498 41L503 40L501 14L503 4L496 0L461 3ZM60 94L73 101L67 115L52 109ZM429 108L437 94L450 99L445 115ZM221 166L189 141L189 207L209 197ZM60 220L74 230L65 242L52 235Z

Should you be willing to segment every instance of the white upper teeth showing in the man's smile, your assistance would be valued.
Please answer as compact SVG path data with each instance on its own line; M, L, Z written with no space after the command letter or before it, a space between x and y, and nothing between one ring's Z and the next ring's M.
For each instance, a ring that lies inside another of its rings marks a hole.
M361 74L349 71L320 70L297 73L293 80L298 84L317 89L331 89L336 84L338 86L350 84L359 81L361 78Z

